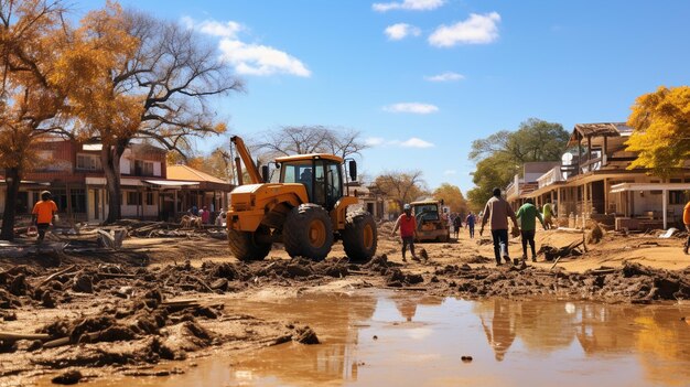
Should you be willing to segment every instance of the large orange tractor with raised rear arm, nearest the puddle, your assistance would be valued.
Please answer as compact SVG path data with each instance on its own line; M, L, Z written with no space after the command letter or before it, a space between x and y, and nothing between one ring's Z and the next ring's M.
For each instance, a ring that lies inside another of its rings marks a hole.
M268 165L259 174L241 138L233 137L231 142L239 154L239 186L230 193L227 234L237 259L261 260L273 243L282 241L291 257L322 260L337 239L353 260L374 256L376 223L371 214L352 211L358 200L348 195L342 158L327 153L277 158L280 178L273 183ZM250 184L242 184L240 158ZM347 166L349 179L356 181L357 164L351 160Z

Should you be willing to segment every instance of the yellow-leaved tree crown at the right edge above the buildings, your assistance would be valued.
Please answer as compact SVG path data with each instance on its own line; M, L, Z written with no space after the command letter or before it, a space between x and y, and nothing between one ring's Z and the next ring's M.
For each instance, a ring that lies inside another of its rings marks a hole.
M628 117L634 132L627 150L638 157L628 169L668 176L690 159L690 87L659 87L637 97Z

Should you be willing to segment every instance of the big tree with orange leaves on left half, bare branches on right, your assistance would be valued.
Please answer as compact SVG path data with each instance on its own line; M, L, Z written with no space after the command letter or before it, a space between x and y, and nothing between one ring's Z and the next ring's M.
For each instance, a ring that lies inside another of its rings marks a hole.
M193 31L110 1L82 20L73 42L53 82L64 85L75 136L103 143L111 223L121 216L119 166L127 147L144 139L181 150L191 137L224 132L208 98L242 84Z

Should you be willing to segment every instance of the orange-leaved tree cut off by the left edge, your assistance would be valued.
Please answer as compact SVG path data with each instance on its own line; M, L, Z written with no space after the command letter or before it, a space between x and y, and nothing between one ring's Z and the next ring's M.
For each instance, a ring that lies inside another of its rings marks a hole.
M50 83L67 26L60 1L0 2L0 169L7 184L1 239L12 240L18 193L42 138L62 132L64 96Z

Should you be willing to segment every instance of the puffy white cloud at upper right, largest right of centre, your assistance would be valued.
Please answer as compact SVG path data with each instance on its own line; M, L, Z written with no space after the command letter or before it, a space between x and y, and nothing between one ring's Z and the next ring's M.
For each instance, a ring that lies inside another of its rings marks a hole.
M487 44L498 39L500 15L496 12L470 14L470 19L452 25L440 25L430 36L429 43L436 47L456 44Z

